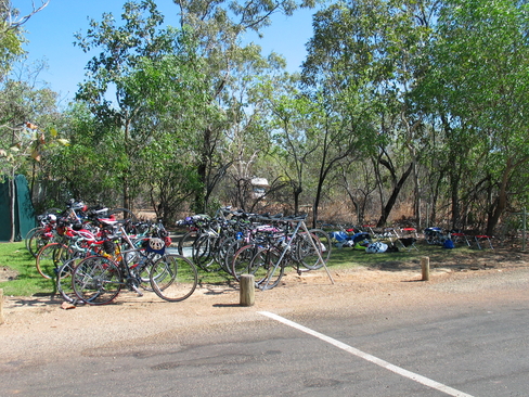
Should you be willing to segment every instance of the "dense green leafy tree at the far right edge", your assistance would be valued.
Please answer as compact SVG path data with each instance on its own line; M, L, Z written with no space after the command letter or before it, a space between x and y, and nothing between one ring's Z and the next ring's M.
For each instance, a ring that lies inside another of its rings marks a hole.
M455 155L468 159L462 175L474 177L453 183L453 200L481 197L474 210L486 215L487 233L511 201L527 196L513 188L526 184L529 162L528 11L526 2L514 0L446 1L431 43L433 69L421 92L447 115L444 138L461 149Z

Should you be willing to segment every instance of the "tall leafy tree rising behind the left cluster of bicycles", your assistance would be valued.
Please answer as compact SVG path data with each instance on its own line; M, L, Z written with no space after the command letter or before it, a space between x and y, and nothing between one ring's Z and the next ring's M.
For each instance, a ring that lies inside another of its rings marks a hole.
M149 153L145 144L158 138L168 142L159 137L166 133L181 143L182 137L199 128L204 107L209 106L203 106L204 87L195 84L204 64L194 55L189 34L164 27L164 16L152 0L127 2L120 22L103 14L101 22L92 20L86 35L76 38L86 52L101 50L88 63L76 98L95 115L105 141L112 141L112 169L119 179L122 206L130 208L144 180L142 171L152 165L152 155L151 163L141 162L142 153ZM164 149L173 150L172 158L181 154L175 145ZM185 152L193 155L192 150ZM167 159L167 153L162 157ZM158 176L167 175L168 164Z

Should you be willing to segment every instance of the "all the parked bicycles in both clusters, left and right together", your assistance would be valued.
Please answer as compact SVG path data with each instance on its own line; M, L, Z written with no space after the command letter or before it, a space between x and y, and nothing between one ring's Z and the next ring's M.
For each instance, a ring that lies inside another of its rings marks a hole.
M253 274L257 287L279 284L286 267L298 273L319 269L331 256L322 229L308 229L306 216L248 214L221 208L177 222L185 233L173 243L162 221L138 221L122 208L88 208L70 201L48 210L26 235L38 272L55 281L74 305L111 303L122 289L154 292L169 302L193 294L198 270L223 271L240 280ZM198 270L197 270L198 269Z

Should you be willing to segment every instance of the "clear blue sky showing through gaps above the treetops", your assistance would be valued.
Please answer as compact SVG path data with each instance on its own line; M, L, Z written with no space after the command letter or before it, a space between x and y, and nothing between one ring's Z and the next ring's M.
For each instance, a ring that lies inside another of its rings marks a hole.
M39 0L34 0L39 4ZM89 18L101 20L104 12L112 12L116 17L121 14L125 0L50 0L49 5L34 15L25 25L25 46L28 63L44 60L48 69L41 72L39 80L69 100L82 81L85 66L91 55L74 47L74 34L86 31ZM166 16L166 23L176 23L177 7L172 0L157 0L158 9ZM31 0L13 0L14 8L21 14L30 11ZM313 10L300 10L294 16L276 14L272 26L264 30L264 38L254 41L262 47L266 55L275 51L286 57L288 71L299 69L306 56L306 43L312 36Z

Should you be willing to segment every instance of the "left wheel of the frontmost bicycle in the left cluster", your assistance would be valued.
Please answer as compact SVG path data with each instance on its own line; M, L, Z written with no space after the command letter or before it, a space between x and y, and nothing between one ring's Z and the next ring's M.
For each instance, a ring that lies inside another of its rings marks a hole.
M105 305L119 294L122 274L113 260L90 256L75 267L72 284L79 299L89 305Z

